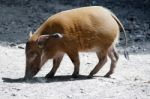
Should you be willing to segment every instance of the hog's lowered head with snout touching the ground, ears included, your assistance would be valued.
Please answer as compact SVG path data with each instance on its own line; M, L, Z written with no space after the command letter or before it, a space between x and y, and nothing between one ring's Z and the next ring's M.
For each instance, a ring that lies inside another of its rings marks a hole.
M26 43L26 71L25 80L30 80L35 76L44 63L53 58L57 52L58 38L61 34L41 35L36 40L30 35L30 39Z

